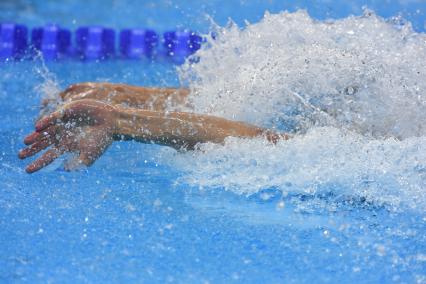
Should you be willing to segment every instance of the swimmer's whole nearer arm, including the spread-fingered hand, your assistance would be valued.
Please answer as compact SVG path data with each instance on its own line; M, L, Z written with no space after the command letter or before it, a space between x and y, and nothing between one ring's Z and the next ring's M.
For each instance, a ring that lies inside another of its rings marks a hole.
M78 153L75 164L90 166L113 140L134 139L177 149L192 149L197 143L222 143L228 136L264 136L276 143L278 134L243 122L184 112L155 112L112 106L97 100L78 100L42 118L24 139L19 152L25 159L48 148L27 167L28 173L44 168L66 152Z

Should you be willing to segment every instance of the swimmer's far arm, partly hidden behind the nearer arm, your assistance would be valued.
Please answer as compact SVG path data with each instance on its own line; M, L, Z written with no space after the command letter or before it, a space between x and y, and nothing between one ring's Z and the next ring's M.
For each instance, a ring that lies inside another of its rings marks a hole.
M79 83L60 93L63 102L93 99L111 105L164 111L169 106L183 106L189 90L185 88L147 88L112 83ZM48 100L43 104L47 105Z

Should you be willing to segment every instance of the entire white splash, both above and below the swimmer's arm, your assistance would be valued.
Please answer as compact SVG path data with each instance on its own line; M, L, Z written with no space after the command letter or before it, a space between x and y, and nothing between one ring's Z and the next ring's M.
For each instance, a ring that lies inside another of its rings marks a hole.
M275 146L230 138L196 153L163 151L181 181L426 209L425 34L370 11L326 22L266 14L217 30L200 62L180 70L195 111L299 134Z

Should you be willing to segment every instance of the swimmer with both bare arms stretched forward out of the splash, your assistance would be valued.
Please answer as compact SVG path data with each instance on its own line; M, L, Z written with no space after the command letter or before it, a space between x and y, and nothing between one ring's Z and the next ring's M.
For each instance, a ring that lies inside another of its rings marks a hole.
M263 136L271 143L289 139L287 134L210 115L167 111L169 106L189 107L188 89L144 88L124 84L81 83L60 93L56 110L41 117L35 131L19 151L25 159L49 148L30 163L36 172L64 153L78 153L66 165L70 170L90 166L115 140L156 143L178 150L191 150L198 143L223 143L228 136ZM50 101L43 102L46 108Z

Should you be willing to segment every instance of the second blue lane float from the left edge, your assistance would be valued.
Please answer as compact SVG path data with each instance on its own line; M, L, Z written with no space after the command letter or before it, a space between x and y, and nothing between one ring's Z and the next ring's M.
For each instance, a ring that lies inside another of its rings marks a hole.
M31 44L45 59L63 58L71 52L71 32L56 25L34 28Z

